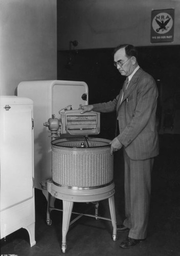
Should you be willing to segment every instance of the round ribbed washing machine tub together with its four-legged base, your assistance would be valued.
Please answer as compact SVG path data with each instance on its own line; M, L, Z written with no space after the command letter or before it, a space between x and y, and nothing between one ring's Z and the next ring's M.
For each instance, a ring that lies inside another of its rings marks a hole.
M81 147L81 143L85 148ZM117 240L115 212L115 184L113 181L113 156L110 155L110 140L100 138L65 138L52 141L52 180L47 180L49 192L47 223L51 223L50 198L63 203L62 252L66 250L66 234L71 225L74 202L96 203L95 215L79 214L109 220L113 226L113 240ZM98 216L98 202L108 199L110 219ZM76 212L73 212L77 214Z

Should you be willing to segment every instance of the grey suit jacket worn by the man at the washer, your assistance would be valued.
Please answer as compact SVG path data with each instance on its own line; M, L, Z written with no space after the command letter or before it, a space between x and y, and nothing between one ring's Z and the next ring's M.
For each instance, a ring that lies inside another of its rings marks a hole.
M158 89L155 81L141 68L131 78L128 88L113 101L94 104L94 111L117 111L120 134L127 155L133 160L143 160L159 154L156 127Z

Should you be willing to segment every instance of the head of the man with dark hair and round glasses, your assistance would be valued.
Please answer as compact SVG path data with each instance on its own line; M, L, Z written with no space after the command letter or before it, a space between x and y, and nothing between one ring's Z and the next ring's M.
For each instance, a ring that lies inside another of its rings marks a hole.
M119 45L114 50L114 64L123 76L129 76L138 66L138 52L132 45Z

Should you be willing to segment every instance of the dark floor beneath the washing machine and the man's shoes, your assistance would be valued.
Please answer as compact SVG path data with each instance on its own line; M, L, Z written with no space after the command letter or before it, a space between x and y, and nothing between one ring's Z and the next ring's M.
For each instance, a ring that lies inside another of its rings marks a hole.
M35 190L36 245L30 247L28 232L17 230L1 240L1 255L18 256L180 256L180 135L160 135L160 155L156 157L152 172L152 195L146 241L131 249L119 247L127 233L111 239L111 222L83 216L66 236L65 254L61 251L62 212L51 212L52 225L46 224L46 198ZM124 218L123 158L115 153L115 183L117 222ZM61 201L56 200L61 207ZM88 209L90 207L90 209ZM93 204L76 203L74 210L94 214ZM100 201L99 214L109 217L108 200ZM73 216L72 216L73 217Z

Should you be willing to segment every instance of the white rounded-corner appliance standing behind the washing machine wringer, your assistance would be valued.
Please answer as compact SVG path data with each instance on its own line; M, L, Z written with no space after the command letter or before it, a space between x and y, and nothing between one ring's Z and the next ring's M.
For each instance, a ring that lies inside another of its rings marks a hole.
M52 177L51 134L43 123L52 114L59 119L59 111L68 105L73 110L80 104L87 105L88 87L82 81L23 81L18 84L17 95L33 100L35 187L41 189L40 182Z

